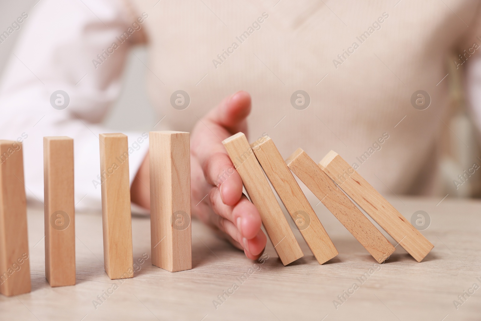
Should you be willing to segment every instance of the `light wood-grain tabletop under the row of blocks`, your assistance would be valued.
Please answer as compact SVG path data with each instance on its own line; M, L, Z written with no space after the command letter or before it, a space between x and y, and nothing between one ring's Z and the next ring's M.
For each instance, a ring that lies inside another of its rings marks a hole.
M76 213L76 285L55 288L45 279L43 209L29 207L32 292L0 295L0 320L481 320L480 201L390 198L408 219L418 210L429 214L422 233L434 249L418 263L396 246L380 265L324 205L308 199L339 251L324 265L299 231L304 257L284 267L270 242L264 260L253 262L193 220L192 270L171 273L151 265L150 218L133 215L137 272L110 280L99 211Z

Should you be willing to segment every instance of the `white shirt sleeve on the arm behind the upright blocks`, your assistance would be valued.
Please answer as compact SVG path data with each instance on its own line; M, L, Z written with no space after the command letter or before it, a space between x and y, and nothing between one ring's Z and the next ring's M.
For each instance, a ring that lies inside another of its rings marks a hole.
M109 132L100 122L120 94L128 50L145 39L145 15L120 0L43 0L23 16L0 83L0 139L23 142L27 197L43 202L43 137L73 138L77 208L100 208L98 135ZM57 90L63 105L56 95L51 104ZM125 134L132 182L149 143Z

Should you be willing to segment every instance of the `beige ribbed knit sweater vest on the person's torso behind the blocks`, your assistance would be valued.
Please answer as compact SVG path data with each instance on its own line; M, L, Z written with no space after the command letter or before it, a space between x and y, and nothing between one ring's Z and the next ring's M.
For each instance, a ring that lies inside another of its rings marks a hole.
M138 12L152 6L138 2ZM247 90L250 141L266 132L285 158L297 147L316 161L334 150L380 191L432 193L446 64L453 52L473 59L463 50L481 44L477 2L445 3L162 1L146 22L152 100L170 128L190 130ZM170 105L176 90L189 94L187 109ZM296 90L307 108L291 104ZM425 110L411 103L418 90L430 96Z

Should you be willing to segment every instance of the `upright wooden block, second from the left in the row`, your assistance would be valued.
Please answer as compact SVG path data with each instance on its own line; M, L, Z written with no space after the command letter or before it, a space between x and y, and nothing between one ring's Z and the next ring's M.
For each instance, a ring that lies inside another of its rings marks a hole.
M75 284L74 140L43 138L45 277L51 286Z

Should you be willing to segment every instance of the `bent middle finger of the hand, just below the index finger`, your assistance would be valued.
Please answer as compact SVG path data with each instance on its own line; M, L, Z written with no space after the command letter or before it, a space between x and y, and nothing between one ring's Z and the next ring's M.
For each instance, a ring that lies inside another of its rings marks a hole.
M241 200L236 205L226 205L220 198L219 190L213 188L210 192L209 199L214 212L228 219L237 227L241 238L236 239L234 235L230 235L239 243L242 243L242 238L250 240L261 231L262 221L259 211L249 202L245 195L242 195Z

